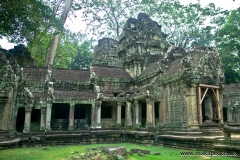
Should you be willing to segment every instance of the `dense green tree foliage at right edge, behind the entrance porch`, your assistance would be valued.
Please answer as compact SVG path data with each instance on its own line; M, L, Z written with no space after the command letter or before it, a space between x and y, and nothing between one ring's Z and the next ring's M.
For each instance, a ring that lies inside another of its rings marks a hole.
M240 82L240 13L233 10L217 32L216 44L225 69L226 83Z

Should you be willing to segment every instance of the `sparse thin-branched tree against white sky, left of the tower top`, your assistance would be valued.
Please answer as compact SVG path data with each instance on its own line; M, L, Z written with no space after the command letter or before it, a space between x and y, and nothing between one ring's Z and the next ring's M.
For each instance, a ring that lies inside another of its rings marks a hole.
M136 6L141 0L83 0L75 4L75 10L82 9L83 20L93 35L117 38L127 18L135 17Z

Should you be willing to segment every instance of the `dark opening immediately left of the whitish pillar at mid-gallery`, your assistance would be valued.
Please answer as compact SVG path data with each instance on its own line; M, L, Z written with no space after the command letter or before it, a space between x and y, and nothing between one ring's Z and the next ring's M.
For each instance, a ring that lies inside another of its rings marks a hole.
M74 128L88 129L91 126L91 104L76 104L74 109Z

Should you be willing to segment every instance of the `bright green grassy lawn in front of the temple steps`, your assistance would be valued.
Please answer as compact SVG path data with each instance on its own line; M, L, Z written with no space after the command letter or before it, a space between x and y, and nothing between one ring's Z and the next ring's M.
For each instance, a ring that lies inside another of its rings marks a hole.
M161 152L160 155L144 155L143 157L133 154L128 155L126 159L128 160L185 160L185 159L214 159L214 160L236 160L233 157L208 157L208 156L180 156L180 152L189 152L195 150L180 150L165 148L161 146L141 146L137 144L130 143L118 143L118 144L92 144L92 145L79 145L79 146L56 146L56 147L36 147L36 148L16 148L0 150L0 160L69 160L72 156L79 156L81 153L85 153L86 148L93 147L103 147L103 146L125 146L127 151L132 148L146 149L150 150L151 153ZM47 150L42 150L42 148L47 148ZM71 154L71 152L78 152ZM200 151L201 152L201 151Z

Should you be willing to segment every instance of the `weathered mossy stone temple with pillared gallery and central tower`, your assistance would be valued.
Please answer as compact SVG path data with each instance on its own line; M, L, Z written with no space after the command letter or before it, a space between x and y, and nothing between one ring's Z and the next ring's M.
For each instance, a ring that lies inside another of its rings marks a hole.
M26 47L1 49L0 133L10 140L115 131L133 141L124 134L134 132L151 142L154 133L171 145L165 140L174 135L221 137L225 123L229 137L240 123L240 85L224 84L217 50L169 46L166 37L140 13L118 40L98 41L89 70L36 67Z

